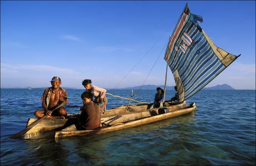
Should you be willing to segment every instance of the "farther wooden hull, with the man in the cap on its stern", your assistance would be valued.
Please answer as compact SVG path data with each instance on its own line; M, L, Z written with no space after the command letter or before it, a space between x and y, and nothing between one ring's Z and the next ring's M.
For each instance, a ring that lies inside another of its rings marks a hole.
M165 108L168 108L170 110L179 110L179 109L183 109L188 106L188 105L186 105L186 102L183 102L181 104L178 104L177 102L171 102L169 104L170 105L166 106ZM127 106L122 105L115 109L107 110L105 113L103 113L101 115L101 119L108 120L109 118L112 118L113 116L124 115L124 114L133 114L133 113L136 113L136 114L134 114L136 116L143 115L144 117L150 117L152 115L157 115L156 113L158 111L158 109L156 109L156 111L153 111L152 109L151 109L151 111L147 111L147 109L150 107L150 104L139 104L139 105L130 105L129 107L131 109L133 109L133 112L130 112L127 110L125 113L126 107ZM26 126L28 126L35 120L37 120L37 118L29 118ZM134 120L134 118L131 120ZM118 121L120 121L120 120L118 120ZM24 138L31 138L32 137L31 134L38 133L41 131L61 130L71 124L74 124L74 123L76 123L75 118L70 118L70 119L45 118L40 123L38 123L36 126L31 128L25 134Z

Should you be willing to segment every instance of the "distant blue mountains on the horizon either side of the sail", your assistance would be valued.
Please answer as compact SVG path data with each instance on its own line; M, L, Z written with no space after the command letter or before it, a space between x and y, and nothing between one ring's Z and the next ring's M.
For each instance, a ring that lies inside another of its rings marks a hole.
M157 87L160 87L162 89L164 89L164 85L143 85L142 88L141 86L133 86L133 87L127 87L127 88L116 88L116 89L156 89ZM202 90L232 90L234 88L232 88L230 85L227 84L223 84L223 85L216 85L216 86L212 86L209 88L203 88ZM174 86L166 86L166 90L174 90Z

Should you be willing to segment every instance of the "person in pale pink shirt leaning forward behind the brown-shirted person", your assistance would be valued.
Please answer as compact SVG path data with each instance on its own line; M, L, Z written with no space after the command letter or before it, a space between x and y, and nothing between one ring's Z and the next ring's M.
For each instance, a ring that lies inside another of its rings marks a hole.
M93 96L95 97L94 103L96 103L99 107L100 112L102 112L105 109L105 106L107 105L107 97L106 97L106 89L99 88L95 85L91 85L91 80L83 80L82 85L86 89L86 91L90 91Z

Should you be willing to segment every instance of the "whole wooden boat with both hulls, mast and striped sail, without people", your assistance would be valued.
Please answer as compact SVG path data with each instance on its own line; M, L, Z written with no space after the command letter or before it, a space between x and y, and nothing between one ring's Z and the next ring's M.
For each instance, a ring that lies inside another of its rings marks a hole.
M167 66L164 92L169 66L178 89L178 103L174 102L169 106L149 110L149 104L130 105L128 109L129 101L126 106L102 113L101 122L105 128L101 126L98 133L153 123L184 115L196 109L194 103L186 105L185 100L196 94L240 56L217 47L198 24L199 22L203 22L202 16L191 13L186 4L165 51L164 59ZM115 119L114 117L118 115L122 117ZM106 125L105 123L112 118L114 118L113 121ZM37 118L30 118L28 125L36 120ZM74 123L72 118L69 120L44 119L32 127L26 135L43 130L59 130L55 132L55 137L88 135L88 132L91 132L78 131L72 123ZM66 126L68 127L64 128Z

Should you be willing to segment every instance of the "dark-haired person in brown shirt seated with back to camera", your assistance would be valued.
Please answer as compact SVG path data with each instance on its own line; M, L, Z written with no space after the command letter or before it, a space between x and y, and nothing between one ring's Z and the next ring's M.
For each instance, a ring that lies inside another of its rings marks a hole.
M81 115L78 118L79 127L82 130L92 130L100 127L100 111L93 99L93 94L90 91L85 91L81 94L83 106L80 108Z

